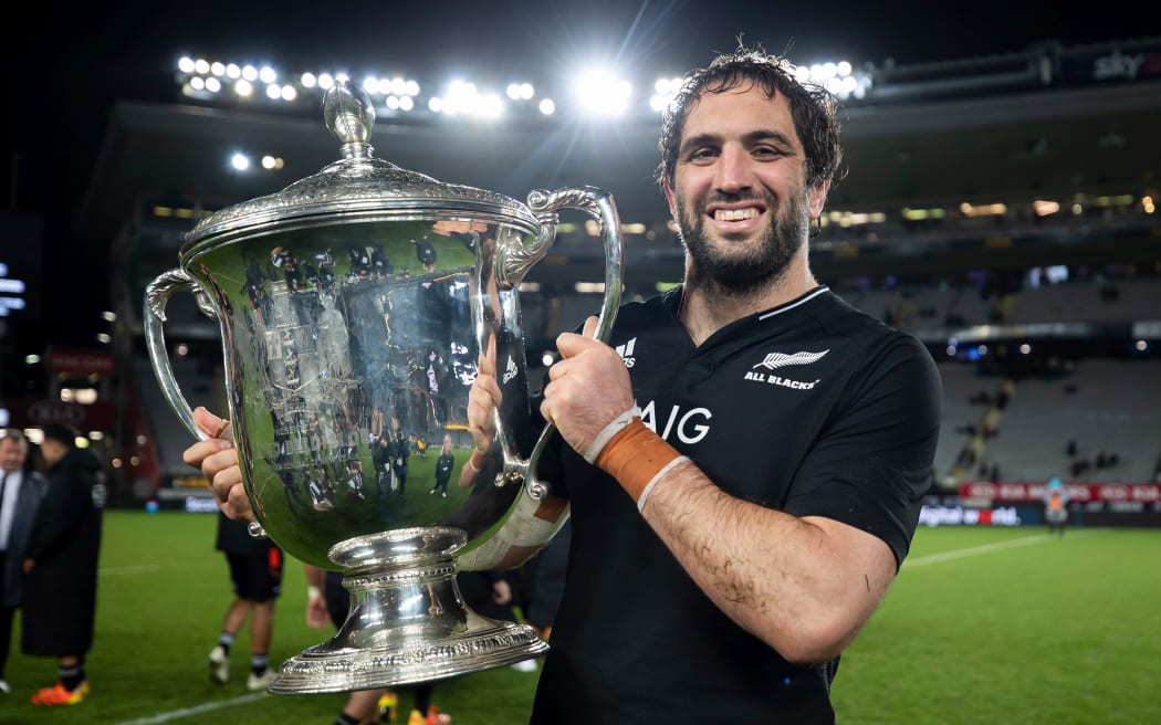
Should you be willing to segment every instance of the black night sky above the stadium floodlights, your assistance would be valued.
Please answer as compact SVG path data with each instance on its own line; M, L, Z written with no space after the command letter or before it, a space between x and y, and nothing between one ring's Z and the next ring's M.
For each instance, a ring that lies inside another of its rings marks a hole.
M731 50L738 35L798 63L846 58L881 65L1018 52L1161 35L1161 9L1075 2L713 2L550 0L485 2L87 3L66 17L56 3L6 23L0 58L9 75L0 135L6 209L45 215L52 261L46 333L70 341L72 304L53 289L102 300L107 251L81 248L72 210L118 99L180 101L172 80L182 55L268 61L288 71L347 67L420 79L462 74L479 84L531 78L554 87L583 61L604 59L649 77L680 74ZM172 7L165 7L172 6ZM67 6L65 6L67 7ZM310 8L310 9L305 9ZM59 263L71 260L73 264ZM46 282L49 280L46 278ZM79 334L79 333L78 333ZM86 333L87 334L87 333ZM88 338L91 340L91 336ZM87 342L87 340L85 341Z

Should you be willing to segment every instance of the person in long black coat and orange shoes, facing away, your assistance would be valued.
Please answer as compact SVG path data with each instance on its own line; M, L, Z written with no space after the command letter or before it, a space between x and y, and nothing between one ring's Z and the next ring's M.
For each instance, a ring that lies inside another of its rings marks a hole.
M101 549L104 471L77 433L44 429L41 454L49 487L24 552L21 651L57 658L60 680L33 696L36 705L72 705L88 694L85 655L93 646L96 565Z

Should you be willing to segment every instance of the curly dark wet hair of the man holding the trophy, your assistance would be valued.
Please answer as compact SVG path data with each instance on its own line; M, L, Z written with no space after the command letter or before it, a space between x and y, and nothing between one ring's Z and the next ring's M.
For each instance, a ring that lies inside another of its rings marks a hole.
M785 58L767 55L760 46L740 45L734 52L714 58L709 67L687 73L682 89L665 108L657 142L661 150L657 183L673 184L682 130L698 99L706 93L726 93L747 84L762 88L770 97L781 94L789 101L794 130L806 153L807 186L837 175L843 150L838 142L835 96L822 86L798 80L794 66Z

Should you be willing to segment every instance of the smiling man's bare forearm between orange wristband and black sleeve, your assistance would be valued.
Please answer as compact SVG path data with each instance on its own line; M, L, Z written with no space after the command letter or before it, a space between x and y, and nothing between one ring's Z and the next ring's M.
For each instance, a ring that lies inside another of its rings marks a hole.
M691 463L656 483L642 515L727 616L791 661L841 653L894 575L874 537L730 496Z

